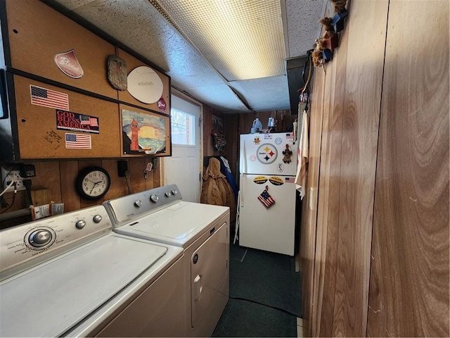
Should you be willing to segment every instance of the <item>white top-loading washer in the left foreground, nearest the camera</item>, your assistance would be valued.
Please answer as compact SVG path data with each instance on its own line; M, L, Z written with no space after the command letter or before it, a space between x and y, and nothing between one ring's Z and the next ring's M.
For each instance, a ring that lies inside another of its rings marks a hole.
M112 231L103 206L0 232L1 337L181 337L183 250Z

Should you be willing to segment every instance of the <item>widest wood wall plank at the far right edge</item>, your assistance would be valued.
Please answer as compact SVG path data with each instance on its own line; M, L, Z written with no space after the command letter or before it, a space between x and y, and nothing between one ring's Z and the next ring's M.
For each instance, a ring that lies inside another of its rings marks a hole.
M449 1L387 27L367 334L449 337Z

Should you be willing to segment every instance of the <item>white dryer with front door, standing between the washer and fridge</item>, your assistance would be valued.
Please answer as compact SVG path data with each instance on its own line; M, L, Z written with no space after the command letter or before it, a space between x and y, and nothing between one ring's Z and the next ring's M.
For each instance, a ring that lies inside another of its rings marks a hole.
M115 232L184 249L185 335L210 337L229 299L229 208L182 201L175 184L103 205Z

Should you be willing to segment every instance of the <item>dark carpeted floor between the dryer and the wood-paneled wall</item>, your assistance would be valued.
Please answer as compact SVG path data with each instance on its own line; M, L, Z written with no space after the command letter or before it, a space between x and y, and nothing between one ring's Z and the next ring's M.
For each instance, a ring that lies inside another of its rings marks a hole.
M297 337L302 317L295 259L230 244L230 299L213 337Z

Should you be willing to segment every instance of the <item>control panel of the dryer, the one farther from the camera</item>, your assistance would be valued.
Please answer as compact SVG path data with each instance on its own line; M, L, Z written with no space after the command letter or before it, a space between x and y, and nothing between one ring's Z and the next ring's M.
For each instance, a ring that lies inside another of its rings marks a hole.
M163 206L180 201L181 194L176 184L165 185L155 189L138 192L127 196L105 201L113 227L120 227L131 220L148 215Z

